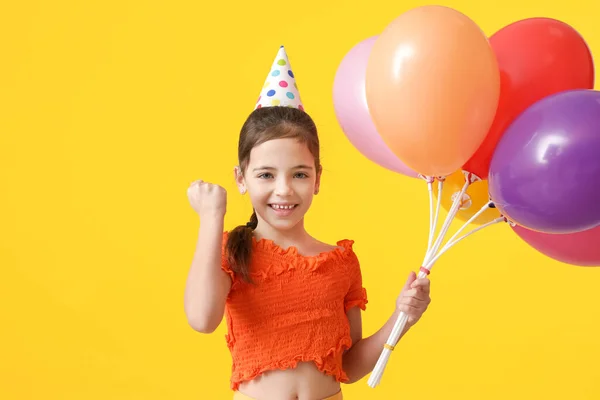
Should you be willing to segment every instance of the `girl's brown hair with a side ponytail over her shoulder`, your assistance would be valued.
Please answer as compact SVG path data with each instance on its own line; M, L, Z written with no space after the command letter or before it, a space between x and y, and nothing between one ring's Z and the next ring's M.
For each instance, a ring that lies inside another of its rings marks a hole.
M304 111L292 107L264 107L254 110L246 119L240 132L238 161L241 173L245 173L250 162L250 152L272 139L294 138L306 144L315 159L316 171L321 170L319 158L319 136L312 118ZM254 211L250 222L233 229L226 244L230 268L244 281L250 279L250 257L253 231L258 225Z

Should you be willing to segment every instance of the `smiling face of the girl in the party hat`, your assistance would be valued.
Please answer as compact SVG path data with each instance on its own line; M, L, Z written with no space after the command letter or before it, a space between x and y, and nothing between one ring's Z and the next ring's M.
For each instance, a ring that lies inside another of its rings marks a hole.
M297 139L274 139L252 149L244 174L236 170L242 193L248 192L259 223L288 230L302 221L318 192L321 173L308 147Z

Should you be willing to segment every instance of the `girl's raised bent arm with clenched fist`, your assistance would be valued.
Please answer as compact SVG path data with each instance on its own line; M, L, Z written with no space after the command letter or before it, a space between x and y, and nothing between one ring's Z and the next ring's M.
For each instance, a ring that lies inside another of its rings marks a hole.
M225 190L217 185L199 183L188 196L200 215L200 230L184 294L184 309L190 326L198 332L212 333L223 319L231 278L221 269Z

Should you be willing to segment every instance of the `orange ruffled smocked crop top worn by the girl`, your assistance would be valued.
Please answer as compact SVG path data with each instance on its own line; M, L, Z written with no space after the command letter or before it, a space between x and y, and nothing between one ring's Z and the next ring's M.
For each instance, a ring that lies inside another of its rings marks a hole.
M223 235L223 245L227 232ZM342 355L352 346L346 311L365 310L367 292L353 241L334 250L303 256L267 239L253 239L250 271L254 284L229 268L232 278L225 306L227 346L232 356L231 388L275 369L314 362L338 382L347 382Z

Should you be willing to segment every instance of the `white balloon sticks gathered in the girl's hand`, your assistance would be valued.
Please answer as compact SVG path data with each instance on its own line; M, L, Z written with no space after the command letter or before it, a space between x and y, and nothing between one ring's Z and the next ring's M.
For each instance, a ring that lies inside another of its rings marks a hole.
M429 275L431 268L433 267L435 262L442 256L442 254L447 252L451 247L455 246L457 243L459 243L463 239L467 238L468 236L470 236L484 228L487 228L488 226L491 226L491 225L494 225L494 224L497 224L500 222L510 222L503 216L498 217L492 221L482 224L481 226L478 226L477 228L471 230L468 233L463 234L462 236L459 236L467 228L467 226L469 224L471 224L473 221L475 221L477 219L477 217L479 217L481 214L483 214L488 208L495 207L494 203L492 201L489 201L483 207L481 207L481 209L479 211L477 211L468 221L466 221L456 231L456 233L450 237L450 239L442 247L442 242L444 241L444 237L448 233L450 224L452 223L454 217L456 216L456 213L460 209L463 195L469 188L469 185L471 185L479 180L479 178L477 178L474 174L471 174L469 172L463 172L463 174L465 175L465 184L463 185L463 187L462 187L461 191L458 193L458 195L454 197L452 206L450 207L450 210L448 211L448 215L446 216L446 220L444 221L442 228L440 230L440 233L439 233L438 237L435 239L435 241L434 241L434 236L435 236L435 230L437 229L437 225L438 225L438 216L439 216L439 211L440 211L440 203L441 203L441 199L442 199L442 190L444 187L444 178L443 177L433 178L433 177L429 177L429 176L421 176L421 178L425 179L425 181L427 182L427 188L429 190L429 240L428 240L428 245L427 245L427 251L425 252L425 258L423 259L423 264L420 268L417 278L424 278L427 275ZM437 206L435 207L435 213L434 213L433 183L436 180L438 182L438 196L437 196ZM394 324L392 333L390 334L390 336L388 337L388 339L384 345L383 351L382 351L381 355L379 356L379 360L377 361L377 364L375 365L375 368L373 369L373 372L371 373L371 376L369 377L368 385L370 387L374 388L381 382L381 377L383 376L383 371L387 365L388 360L390 359L392 351L394 350L394 346L396 345L396 343L400 339L400 335L404 331L407 321L408 321L408 316L406 315L406 313L401 312L400 315L398 316L398 319L396 320L396 323Z

